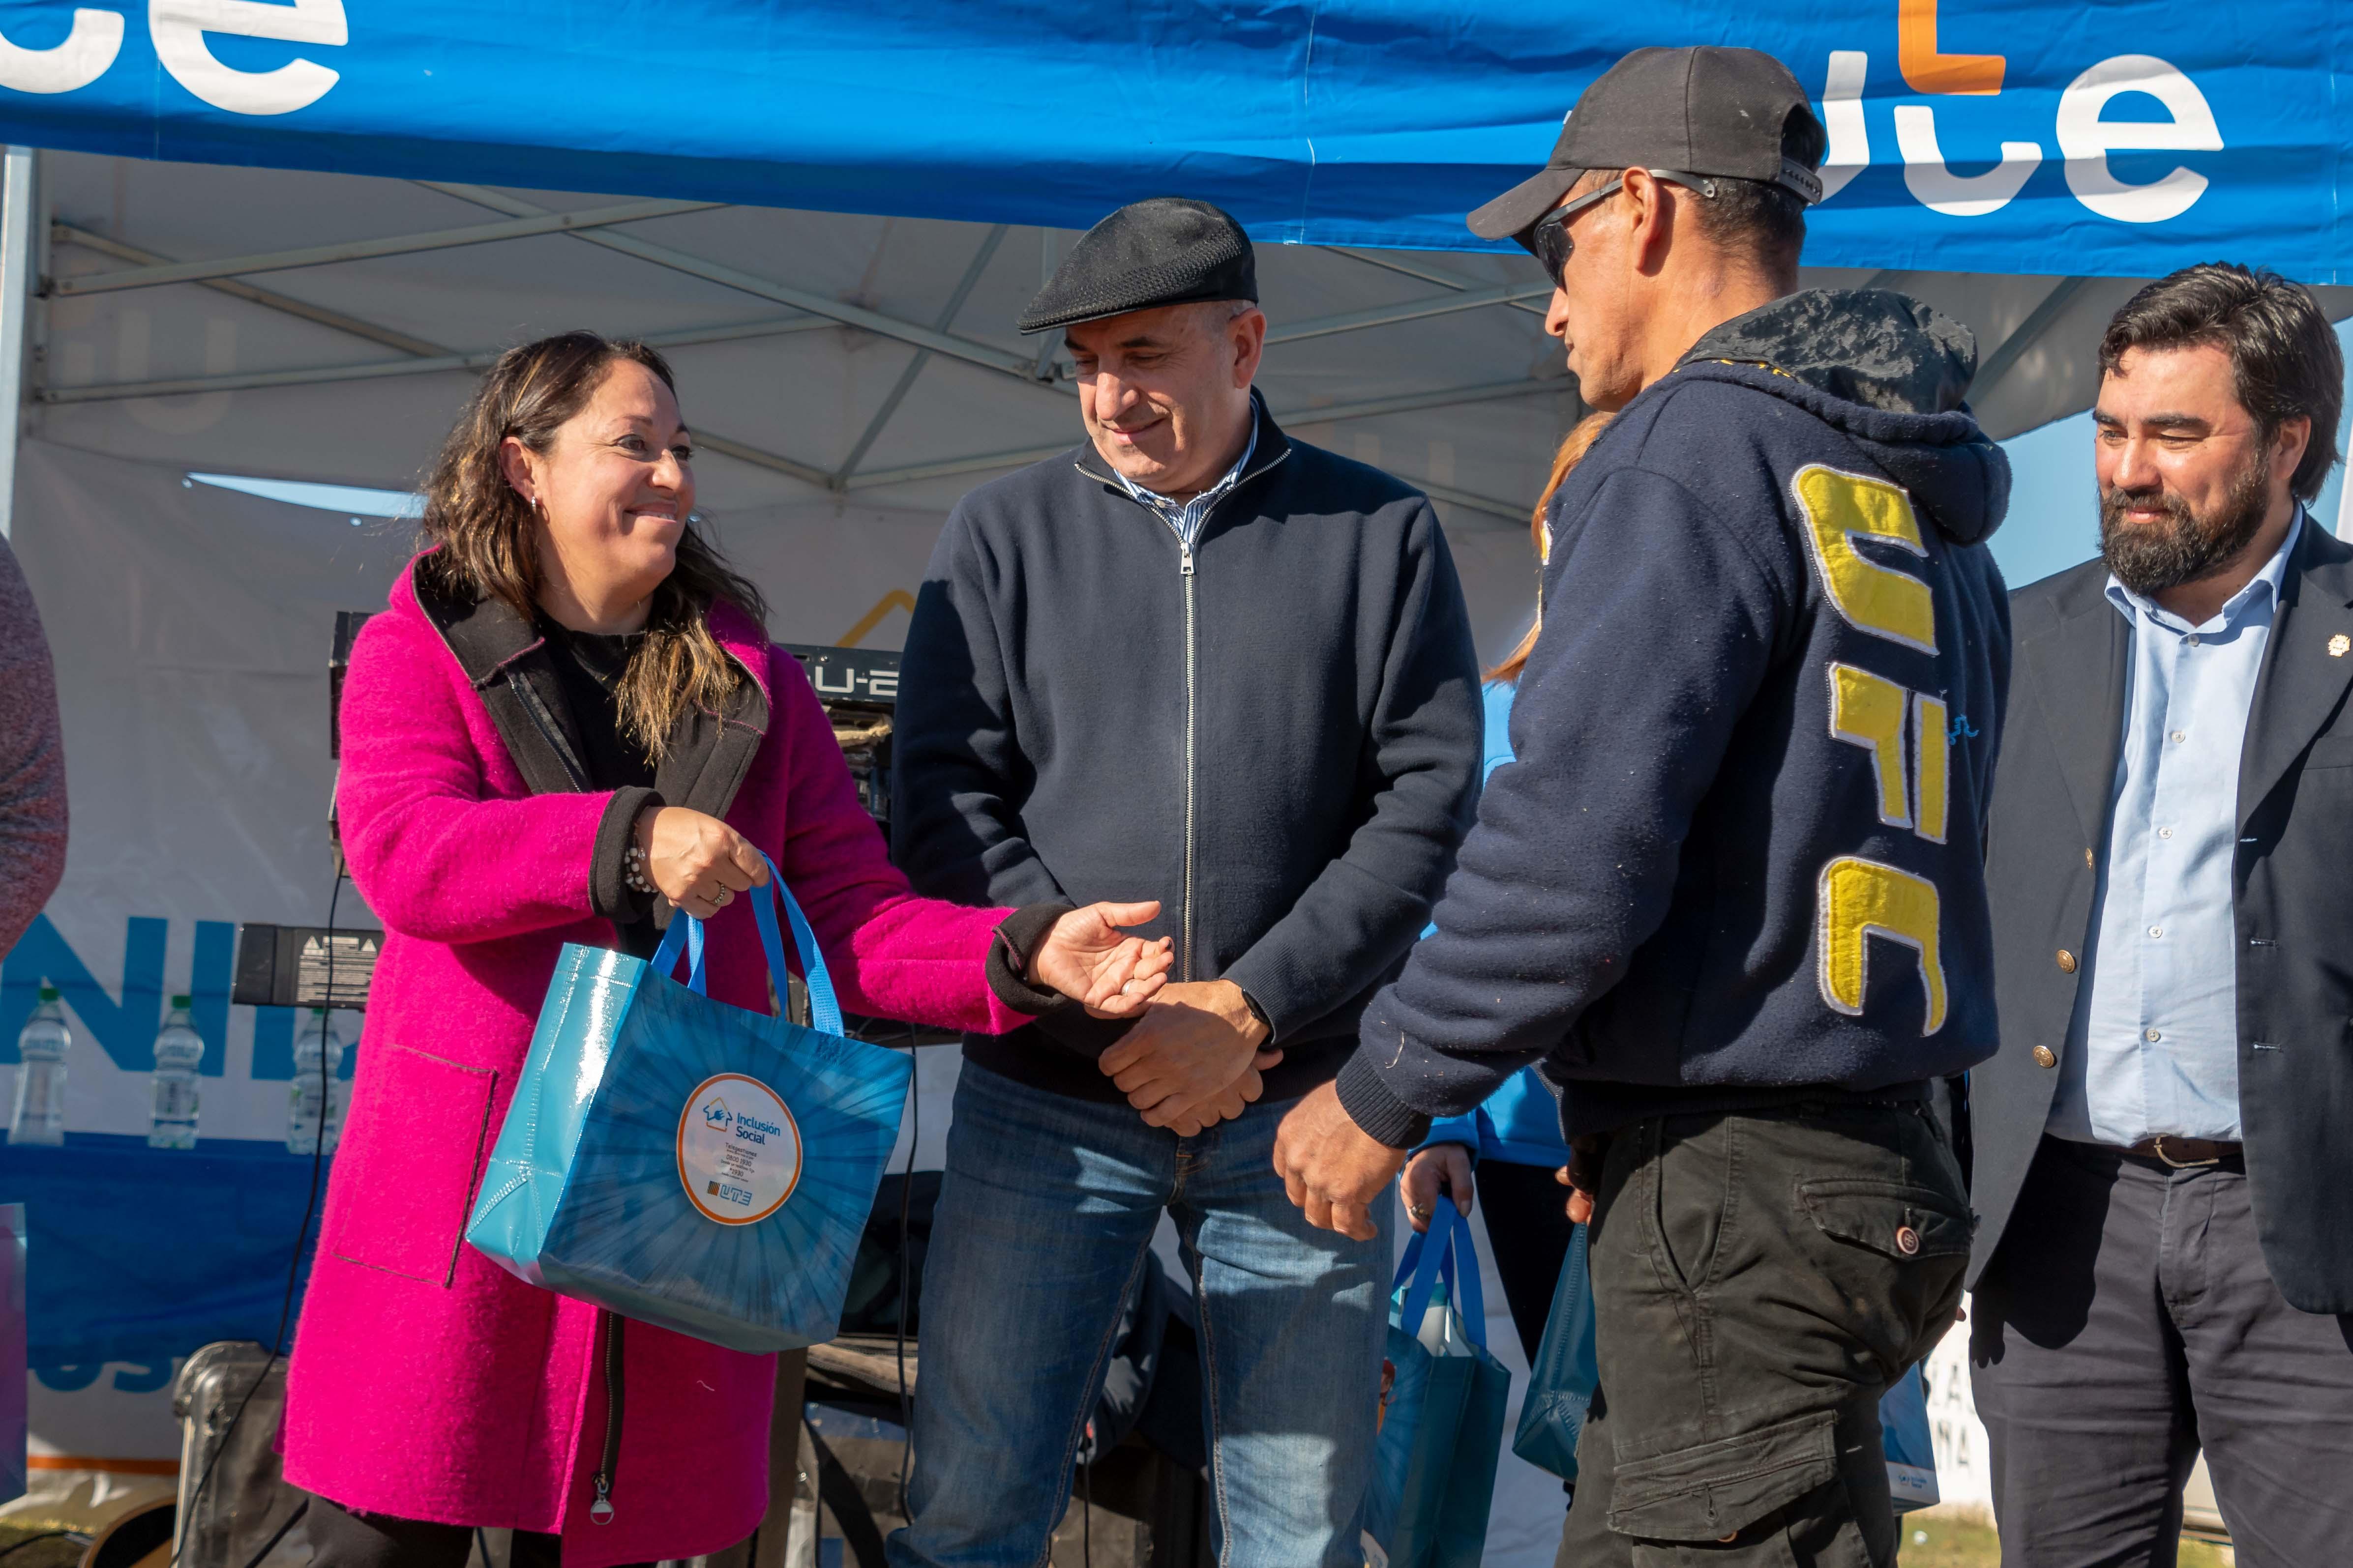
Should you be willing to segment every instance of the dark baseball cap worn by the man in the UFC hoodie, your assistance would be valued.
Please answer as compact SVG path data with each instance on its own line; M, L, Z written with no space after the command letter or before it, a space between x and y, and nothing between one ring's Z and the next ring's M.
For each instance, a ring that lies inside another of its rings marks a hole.
M1560 122L1544 169L1471 214L1480 240L1520 240L1560 205L1586 169L1673 169L1781 186L1798 200L1821 200L1821 153L1798 162L1781 153L1791 115L1821 122L1788 66L1760 49L1635 49L1602 71Z

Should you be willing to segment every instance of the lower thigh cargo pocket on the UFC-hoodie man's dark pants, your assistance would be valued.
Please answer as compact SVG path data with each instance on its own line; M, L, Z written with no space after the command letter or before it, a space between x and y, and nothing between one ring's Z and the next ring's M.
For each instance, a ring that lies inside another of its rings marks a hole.
M1619 1460L1609 1528L1635 1568L1795 1568L1791 1535L1845 1540L1807 1563L1866 1568L1838 1474L1838 1413L1812 1410L1739 1436ZM1828 1526L1824 1530L1824 1526ZM1845 1552L1845 1556L1840 1554Z

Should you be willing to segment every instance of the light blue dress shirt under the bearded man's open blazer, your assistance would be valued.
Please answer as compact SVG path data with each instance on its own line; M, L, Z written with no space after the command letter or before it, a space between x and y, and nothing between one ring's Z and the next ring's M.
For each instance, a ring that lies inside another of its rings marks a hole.
M2299 508L2278 555L2200 625L2108 578L2132 625L2125 743L2047 1121L2059 1138L2240 1138L2238 755L2301 534Z

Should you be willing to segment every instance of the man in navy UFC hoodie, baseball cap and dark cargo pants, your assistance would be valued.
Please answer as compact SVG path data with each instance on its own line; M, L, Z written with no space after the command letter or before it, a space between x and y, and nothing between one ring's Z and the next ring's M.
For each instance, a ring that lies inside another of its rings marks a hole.
M1275 1145L1362 1234L1431 1117L1539 1063L1593 1225L1574 1568L1892 1563L1878 1401L1969 1253L1932 1095L1995 1046L2009 470L1967 329L1795 289L1821 153L1779 61L1638 49L1473 214L1617 418L1553 503L1518 762Z

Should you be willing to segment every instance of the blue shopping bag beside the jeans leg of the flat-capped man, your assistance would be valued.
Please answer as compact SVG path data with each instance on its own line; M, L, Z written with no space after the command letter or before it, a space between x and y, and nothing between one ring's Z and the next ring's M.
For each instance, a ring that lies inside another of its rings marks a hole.
M1365 1493L1367 1559L1386 1568L1478 1568L1485 1554L1511 1373L1487 1354L1482 1307L1468 1222L1438 1204L1391 1291Z

